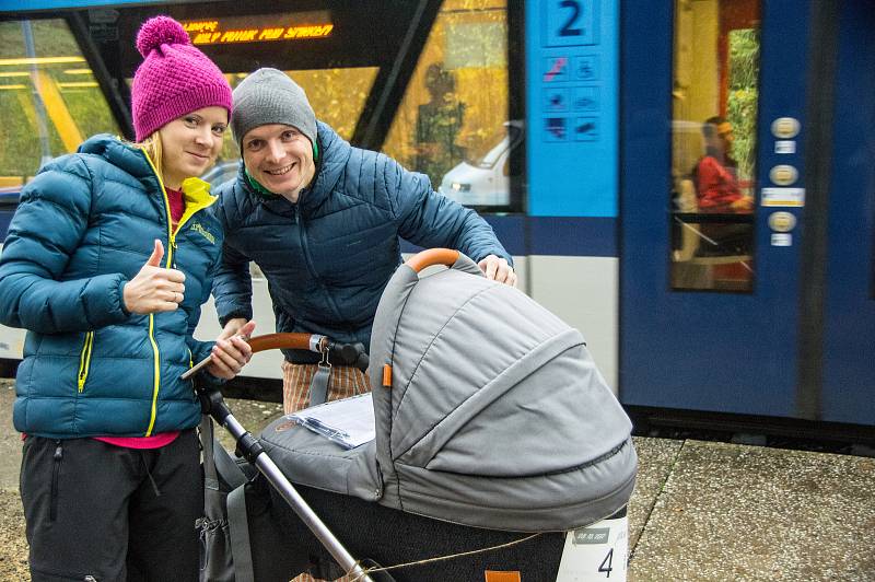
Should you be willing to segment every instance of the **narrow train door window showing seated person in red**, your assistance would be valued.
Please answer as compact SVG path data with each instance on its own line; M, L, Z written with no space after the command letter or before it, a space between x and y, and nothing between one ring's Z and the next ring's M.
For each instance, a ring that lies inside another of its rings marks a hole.
M676 0L670 281L749 292L754 283L758 0Z

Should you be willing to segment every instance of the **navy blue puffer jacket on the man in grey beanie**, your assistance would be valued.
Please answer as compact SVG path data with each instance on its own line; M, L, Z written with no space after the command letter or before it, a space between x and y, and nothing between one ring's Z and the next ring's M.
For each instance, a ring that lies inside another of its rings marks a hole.
M370 346L380 296L401 263L398 237L422 247L457 248L474 260L511 261L476 212L432 190L423 174L353 148L317 124L322 160L298 203L254 191L243 167L217 189L225 229L213 295L222 324L252 318L248 261L268 281L278 331L326 335ZM308 353L285 353L311 361Z

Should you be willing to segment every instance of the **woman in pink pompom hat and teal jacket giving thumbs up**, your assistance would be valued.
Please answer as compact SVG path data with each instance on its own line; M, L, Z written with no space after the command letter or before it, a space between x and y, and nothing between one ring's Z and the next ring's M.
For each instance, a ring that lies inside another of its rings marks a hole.
M34 581L197 580L200 406L179 376L211 357L200 381L221 382L252 356L191 335L222 247L195 176L231 88L173 19L137 48L136 142L95 136L43 167L0 258L0 321L28 330L14 423Z

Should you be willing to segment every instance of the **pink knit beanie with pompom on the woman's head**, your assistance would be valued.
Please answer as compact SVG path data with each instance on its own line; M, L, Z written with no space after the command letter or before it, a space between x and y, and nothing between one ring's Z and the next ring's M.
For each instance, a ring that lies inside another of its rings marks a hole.
M137 141L201 107L224 107L231 115L231 85L207 55L191 46L182 24L170 16L149 19L137 33L137 50L144 59L130 92Z

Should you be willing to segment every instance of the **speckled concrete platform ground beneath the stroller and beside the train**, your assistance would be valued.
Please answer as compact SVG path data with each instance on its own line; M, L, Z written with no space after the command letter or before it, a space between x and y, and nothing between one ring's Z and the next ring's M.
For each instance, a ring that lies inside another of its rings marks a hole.
M13 396L12 383L0 381L0 580L26 579ZM280 414L271 404L229 404L250 429ZM641 466L628 580L875 581L875 458L634 441Z

